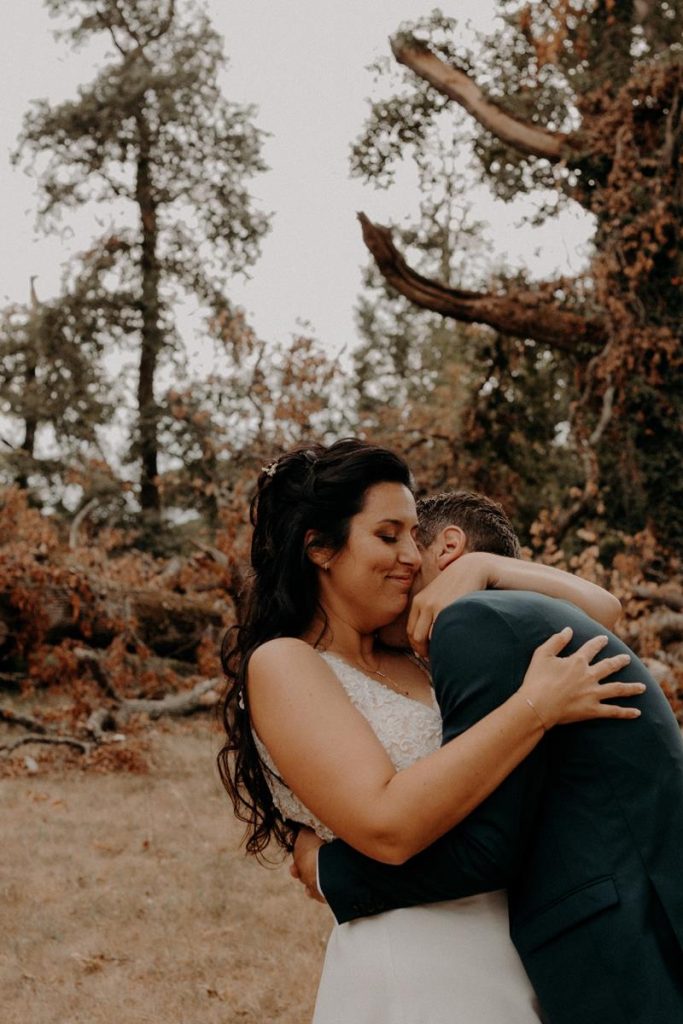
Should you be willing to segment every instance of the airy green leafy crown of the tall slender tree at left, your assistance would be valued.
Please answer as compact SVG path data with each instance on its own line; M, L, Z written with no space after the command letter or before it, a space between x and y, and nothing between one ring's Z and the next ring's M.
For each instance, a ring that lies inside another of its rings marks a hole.
M171 4L164 23L158 6L108 0L65 33L73 43L105 33L116 56L77 99L34 104L17 158L47 158L40 214L48 221L89 201L138 203L135 170L146 161L152 199L163 211L160 259L168 256L179 283L208 298L211 278L191 268L199 247L201 263L223 274L243 270L267 230L245 184L266 169L263 133L252 123L253 108L221 95L226 60L206 14L185 3L181 17ZM52 0L50 8L69 14L92 4Z

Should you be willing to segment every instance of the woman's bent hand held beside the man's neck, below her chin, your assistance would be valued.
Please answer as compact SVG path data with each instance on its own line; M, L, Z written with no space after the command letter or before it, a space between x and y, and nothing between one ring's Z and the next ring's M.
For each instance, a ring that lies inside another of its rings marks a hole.
M484 551L471 551L452 562L416 594L408 616L408 639L416 654L429 656L429 640L440 611L476 590L497 583L495 558Z

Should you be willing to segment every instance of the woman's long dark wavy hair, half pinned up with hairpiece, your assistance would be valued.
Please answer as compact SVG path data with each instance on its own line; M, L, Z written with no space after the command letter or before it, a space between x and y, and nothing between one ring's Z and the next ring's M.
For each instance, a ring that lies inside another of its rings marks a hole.
M228 679L222 707L227 738L218 754L234 813L247 823L249 853L262 854L271 840L291 850L295 836L274 806L267 768L254 743L246 685L249 658L266 640L301 636L319 614L317 570L309 552L343 548L352 517L376 483L413 486L400 456L352 437L329 446L293 449L258 477L250 506L249 591L241 622L228 630L221 650Z

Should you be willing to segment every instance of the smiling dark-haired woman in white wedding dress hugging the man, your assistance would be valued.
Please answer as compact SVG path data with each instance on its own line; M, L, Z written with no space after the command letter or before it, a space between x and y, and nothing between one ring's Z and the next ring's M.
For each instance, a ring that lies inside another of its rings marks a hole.
M544 726L637 715L601 701L633 696L639 684L596 692L624 658L587 669L600 638L557 657L563 632L537 650L515 694L441 746L425 669L377 639L405 609L421 562L410 470L388 450L346 439L286 453L262 470L251 517L253 580L224 644L227 738L218 757L250 853L270 841L291 850L301 823L400 863L485 800ZM539 566L528 567L538 580ZM524 577L525 563L514 571ZM550 568L541 574L555 596L598 621L613 617L613 599L599 588ZM540 1021L504 893L333 931L314 1024L474 1020Z

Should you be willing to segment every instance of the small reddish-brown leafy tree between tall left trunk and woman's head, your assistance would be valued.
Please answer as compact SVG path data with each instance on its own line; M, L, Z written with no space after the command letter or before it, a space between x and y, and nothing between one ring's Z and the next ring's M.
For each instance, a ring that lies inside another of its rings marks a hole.
M187 378L167 396L161 428L170 465L161 486L213 531L236 514L246 527L249 487L261 465L293 444L350 429L345 381L314 339L266 345L241 311L228 310L211 331L210 377Z

